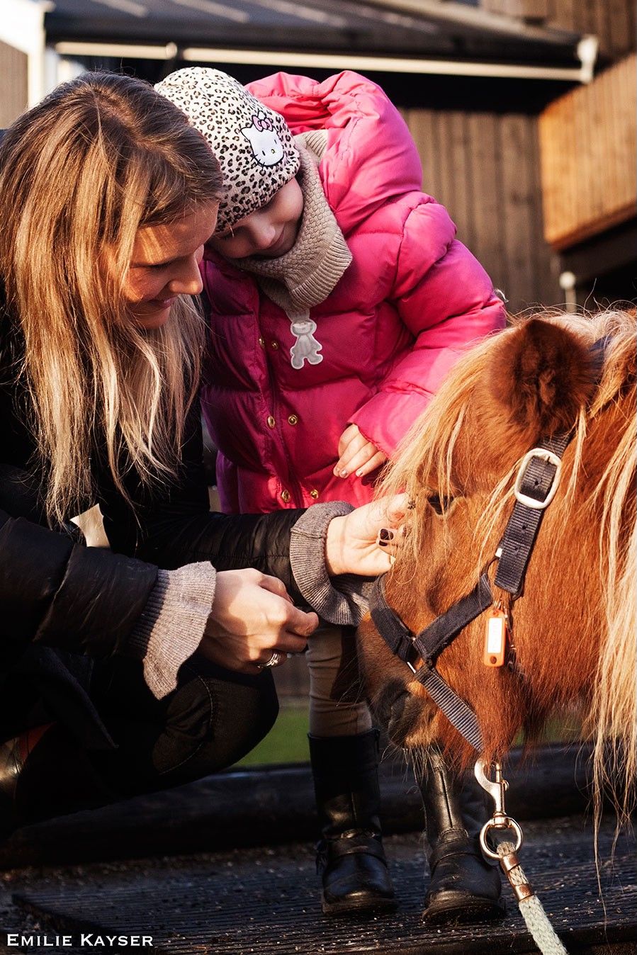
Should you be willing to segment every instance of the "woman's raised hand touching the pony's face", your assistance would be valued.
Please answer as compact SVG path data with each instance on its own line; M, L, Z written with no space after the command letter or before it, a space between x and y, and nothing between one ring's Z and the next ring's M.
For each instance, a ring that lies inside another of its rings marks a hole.
M357 507L344 518L329 521L326 541L326 565L330 576L360 574L377 577L393 563L400 534L395 528L404 520L407 495L373 500ZM381 535L388 530L389 535ZM385 540L379 545L380 537Z

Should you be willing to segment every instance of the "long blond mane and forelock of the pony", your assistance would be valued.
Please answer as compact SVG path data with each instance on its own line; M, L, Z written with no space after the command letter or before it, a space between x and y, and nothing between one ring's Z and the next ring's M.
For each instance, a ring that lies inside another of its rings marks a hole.
M565 491L565 506L559 519L564 534L567 533L569 505L581 486L584 438L591 422L604 412L619 409L620 397L625 398L622 407L631 410L623 415L622 420L618 419L614 432L616 444L602 477L585 501L578 500L578 506L590 507L591 514L593 507L598 515L602 514L598 562L606 621L590 717L584 732L594 741L596 809L599 812L602 790L610 786L620 815L626 817L634 807L637 776L635 315L634 312L608 310L592 316L547 312L533 317L571 330L586 346L606 338L602 379L590 407L580 409L575 423L573 464ZM513 329L499 334L515 333L515 328L525 320L514 320ZM425 499L433 490L431 485L435 485L435 493L440 499L453 498L460 490L454 486L454 451L493 346L494 336L491 336L457 362L427 411L403 440L380 484L380 495L406 491L410 499L412 509L407 518L409 543L405 545L403 559L413 562L414 573L418 562L427 560L427 555L422 553L424 521L419 520L419 516L425 513ZM513 506L513 481L519 467L520 460L501 477L474 530L479 550L477 578L484 568L485 548L493 544L495 528L502 527L503 512L509 513ZM561 526L558 526L558 536L560 530ZM620 797L619 793L623 796Z

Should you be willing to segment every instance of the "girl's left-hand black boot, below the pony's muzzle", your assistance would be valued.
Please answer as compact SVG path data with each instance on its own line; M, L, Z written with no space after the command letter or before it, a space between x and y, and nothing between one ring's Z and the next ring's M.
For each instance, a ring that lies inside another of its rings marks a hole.
M378 733L309 736L326 915L393 909L378 812Z

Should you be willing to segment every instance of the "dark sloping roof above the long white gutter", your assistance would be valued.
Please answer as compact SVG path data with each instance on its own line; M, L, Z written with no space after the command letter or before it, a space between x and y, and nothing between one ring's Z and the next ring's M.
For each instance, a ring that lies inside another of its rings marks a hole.
M403 13L378 0L55 0L49 43L169 44L579 66L577 34ZM515 21L509 21L515 23Z

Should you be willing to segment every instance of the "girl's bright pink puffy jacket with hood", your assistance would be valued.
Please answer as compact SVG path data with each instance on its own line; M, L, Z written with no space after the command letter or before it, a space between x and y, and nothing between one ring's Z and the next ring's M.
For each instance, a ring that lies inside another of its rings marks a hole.
M327 129L319 173L353 261L311 309L323 361L301 370L290 365L296 339L283 309L229 260L202 263L202 406L222 507L364 503L372 479L332 474L348 423L392 455L467 343L503 326L504 309L446 210L420 191L414 141L379 87L346 71L323 83L279 73L248 89L292 133Z

